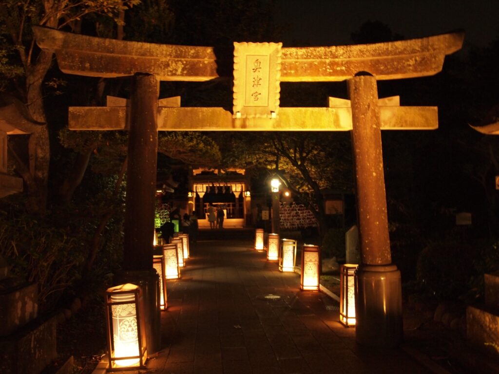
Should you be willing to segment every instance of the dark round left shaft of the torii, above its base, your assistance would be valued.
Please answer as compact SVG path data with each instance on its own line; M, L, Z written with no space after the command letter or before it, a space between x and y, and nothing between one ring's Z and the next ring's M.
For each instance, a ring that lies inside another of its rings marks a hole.
M149 270L153 266L158 88L155 76L134 76L130 101L124 228L126 270Z

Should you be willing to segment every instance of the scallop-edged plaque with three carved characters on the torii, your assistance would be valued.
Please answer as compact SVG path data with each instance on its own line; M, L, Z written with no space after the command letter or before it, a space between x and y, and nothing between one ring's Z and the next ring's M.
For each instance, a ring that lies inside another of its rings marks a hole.
M234 43L234 118L277 118L282 43Z

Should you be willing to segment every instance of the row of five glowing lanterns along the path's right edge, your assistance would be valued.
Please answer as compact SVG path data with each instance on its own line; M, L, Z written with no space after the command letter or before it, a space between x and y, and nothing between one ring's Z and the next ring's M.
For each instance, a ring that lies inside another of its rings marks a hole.
M255 230L254 248L263 251L264 232ZM267 260L278 260L279 271L294 272L296 263L296 240L282 239L270 233L267 238ZM344 264L340 267L340 322L346 326L355 326L355 271L358 265ZM303 244L301 249L300 287L304 291L318 291L321 270L320 249L317 245Z

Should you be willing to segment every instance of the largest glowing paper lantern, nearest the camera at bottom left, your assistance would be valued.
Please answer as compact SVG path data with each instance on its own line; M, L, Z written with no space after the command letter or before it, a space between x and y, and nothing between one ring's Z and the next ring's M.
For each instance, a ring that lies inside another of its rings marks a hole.
M145 369L146 336L139 286L106 290L108 372Z

